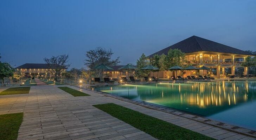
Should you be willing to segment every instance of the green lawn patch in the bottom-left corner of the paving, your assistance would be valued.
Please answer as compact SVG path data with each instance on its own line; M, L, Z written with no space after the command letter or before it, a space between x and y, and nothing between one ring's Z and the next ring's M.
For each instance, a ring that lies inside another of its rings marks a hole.
M23 113L0 115L0 140L16 140Z

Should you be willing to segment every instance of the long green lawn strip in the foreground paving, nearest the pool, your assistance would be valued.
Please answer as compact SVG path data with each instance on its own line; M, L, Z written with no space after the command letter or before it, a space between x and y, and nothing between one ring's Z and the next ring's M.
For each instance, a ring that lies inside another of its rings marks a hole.
M159 140L214 140L203 134L113 103L93 106Z

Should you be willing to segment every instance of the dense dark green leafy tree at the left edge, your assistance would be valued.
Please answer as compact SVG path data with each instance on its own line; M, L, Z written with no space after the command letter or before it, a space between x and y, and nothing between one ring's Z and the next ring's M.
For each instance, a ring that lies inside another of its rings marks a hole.
M4 85L4 79L7 77L12 77L14 69L7 62L0 62L0 79L2 80L2 86Z

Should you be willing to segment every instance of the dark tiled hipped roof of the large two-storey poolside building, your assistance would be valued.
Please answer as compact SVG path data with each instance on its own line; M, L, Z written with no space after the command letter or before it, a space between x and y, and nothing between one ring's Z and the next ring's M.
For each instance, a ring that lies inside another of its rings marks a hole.
M165 49L155 52L148 57L154 55L167 55L169 49L180 49L184 53L197 52L197 51L211 51L211 52L222 52L228 54L240 54L240 55L254 55L249 52L239 50L233 47L229 47L224 44L220 44L211 40L207 40L198 36L191 36L183 41L173 44Z

